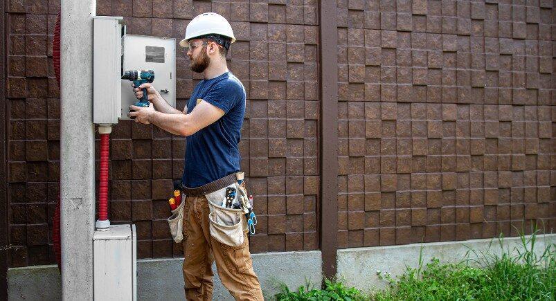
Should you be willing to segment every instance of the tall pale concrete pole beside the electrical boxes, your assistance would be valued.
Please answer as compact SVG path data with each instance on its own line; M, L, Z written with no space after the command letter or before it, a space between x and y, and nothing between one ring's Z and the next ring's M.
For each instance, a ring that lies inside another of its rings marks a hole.
M62 298L93 300L95 0L61 1L60 172Z

